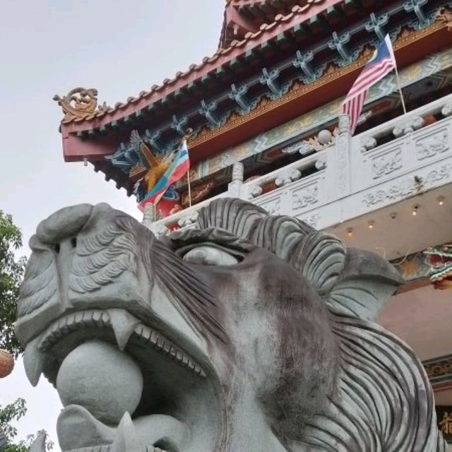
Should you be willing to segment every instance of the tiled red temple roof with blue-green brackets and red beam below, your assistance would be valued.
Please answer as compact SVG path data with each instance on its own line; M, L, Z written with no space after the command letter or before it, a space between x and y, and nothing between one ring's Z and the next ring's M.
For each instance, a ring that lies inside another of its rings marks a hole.
M129 159L131 130L167 152L194 129L189 145L195 164L345 95L379 42L376 30L391 34L400 68L451 44L448 25L436 18L446 0L438 2L418 11L393 0L379 2L378 10L369 0L308 0L114 107L98 107L94 89L56 96L65 113L64 158L92 162L131 193L128 168L106 160L117 153ZM230 0L225 11L277 3L287 8L293 2ZM385 17L387 25L374 22Z

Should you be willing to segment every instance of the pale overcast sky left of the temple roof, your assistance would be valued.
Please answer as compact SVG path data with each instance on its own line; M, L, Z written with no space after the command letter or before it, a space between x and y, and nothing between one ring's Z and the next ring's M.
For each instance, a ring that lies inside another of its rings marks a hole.
M61 207L106 201L141 220L133 198L81 163L65 163L52 101L76 86L124 101L215 52L224 0L0 0L0 210L24 236ZM0 405L22 396L21 437L57 442L61 404L47 381L32 388L23 364L0 381ZM59 447L56 446L56 451Z

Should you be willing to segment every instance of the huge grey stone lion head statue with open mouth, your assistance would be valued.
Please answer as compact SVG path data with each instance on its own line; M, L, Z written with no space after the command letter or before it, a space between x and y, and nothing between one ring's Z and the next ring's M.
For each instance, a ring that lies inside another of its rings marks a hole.
M412 350L372 322L367 251L223 198L157 239L107 204L37 227L16 332L72 452L442 452Z

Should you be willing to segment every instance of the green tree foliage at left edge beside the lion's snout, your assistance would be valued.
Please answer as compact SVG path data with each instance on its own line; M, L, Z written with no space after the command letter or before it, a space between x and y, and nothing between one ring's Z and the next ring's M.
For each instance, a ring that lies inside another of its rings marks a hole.
M18 357L22 348L14 335L16 302L25 270L25 258L16 259L14 250L22 246L22 234L11 215L0 210L0 348Z

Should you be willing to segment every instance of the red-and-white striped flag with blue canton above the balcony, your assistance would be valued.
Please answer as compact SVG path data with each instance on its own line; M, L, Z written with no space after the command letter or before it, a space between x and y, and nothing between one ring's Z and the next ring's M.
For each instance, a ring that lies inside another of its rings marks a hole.
M396 69L396 58L389 35L376 47L369 62L364 66L352 89L342 105L342 112L350 116L350 133L355 132L355 128L361 114L367 91L374 83L386 76L387 73Z

